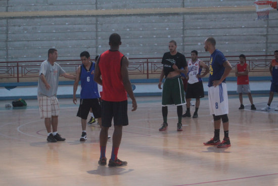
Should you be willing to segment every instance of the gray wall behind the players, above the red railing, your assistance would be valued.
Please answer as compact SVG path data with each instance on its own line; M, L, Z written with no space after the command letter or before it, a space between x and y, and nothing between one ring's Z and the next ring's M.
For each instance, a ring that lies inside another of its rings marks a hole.
M59 59L78 59L87 50L95 56L109 49L113 32L122 36L120 51L129 58L162 57L168 42L177 41L178 51L208 56L203 42L214 36L225 55L264 55L278 50L278 12L269 20L256 20L254 11L206 12L211 7L254 6L253 1L116 1L116 0L2 0L0 13L109 9L196 8L200 12L134 15L63 15L0 17L0 61L44 60L49 48Z

